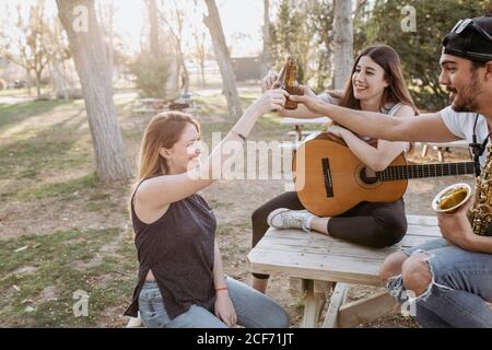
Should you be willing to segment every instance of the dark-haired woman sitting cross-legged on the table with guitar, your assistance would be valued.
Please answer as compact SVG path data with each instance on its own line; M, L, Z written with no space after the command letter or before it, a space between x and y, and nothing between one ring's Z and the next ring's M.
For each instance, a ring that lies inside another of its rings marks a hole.
M271 89L277 73L263 79L263 90ZM355 59L351 79L342 93L328 92L323 101L353 109L380 112L395 117L412 117L418 109L407 89L398 54L389 46L376 45L363 50ZM282 109L282 117L317 118L304 105L295 110ZM340 126L329 129L343 139L352 153L375 172L384 171L398 155L409 149L408 142L389 142L355 135ZM289 191L256 209L251 215L253 246L269 226L297 228L317 231L348 242L370 247L390 246L403 237L407 220L402 198L390 203L361 202L332 218L318 218L307 212L295 191ZM265 292L268 275L253 273L253 288Z

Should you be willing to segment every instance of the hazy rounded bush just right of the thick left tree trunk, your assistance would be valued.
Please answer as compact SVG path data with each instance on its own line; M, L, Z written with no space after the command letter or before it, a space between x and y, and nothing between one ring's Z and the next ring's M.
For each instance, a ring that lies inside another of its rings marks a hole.
M166 83L171 77L171 59L163 56L155 59L150 52L142 51L128 65L134 83L144 97L165 98Z

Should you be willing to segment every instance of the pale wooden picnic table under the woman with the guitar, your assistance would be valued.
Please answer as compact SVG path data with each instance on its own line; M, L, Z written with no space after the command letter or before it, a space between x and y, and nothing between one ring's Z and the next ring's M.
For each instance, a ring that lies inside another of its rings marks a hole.
M250 270L300 280L302 327L317 327L329 294L323 327L359 326L397 312L398 304L386 291L345 303L350 284L382 287L378 271L386 256L441 236L435 217L408 215L408 224L398 245L382 249L301 230L270 229L248 254Z

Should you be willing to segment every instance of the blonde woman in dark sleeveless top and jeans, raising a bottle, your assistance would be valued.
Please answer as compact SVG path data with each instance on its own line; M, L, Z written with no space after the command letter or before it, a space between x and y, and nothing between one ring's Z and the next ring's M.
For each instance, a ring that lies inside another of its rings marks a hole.
M268 296L224 276L216 221L198 195L212 164L229 156L226 142L244 142L256 120L282 108L288 93L266 92L200 164L200 127L189 115L163 113L145 129L138 182L130 199L140 262L128 316L147 327L289 327L289 315Z

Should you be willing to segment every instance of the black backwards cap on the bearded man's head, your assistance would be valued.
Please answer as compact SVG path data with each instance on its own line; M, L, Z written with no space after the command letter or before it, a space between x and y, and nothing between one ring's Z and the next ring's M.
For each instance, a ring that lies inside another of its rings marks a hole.
M459 20L444 37L443 54L472 61L492 61L492 18Z

